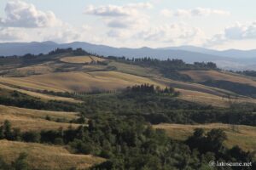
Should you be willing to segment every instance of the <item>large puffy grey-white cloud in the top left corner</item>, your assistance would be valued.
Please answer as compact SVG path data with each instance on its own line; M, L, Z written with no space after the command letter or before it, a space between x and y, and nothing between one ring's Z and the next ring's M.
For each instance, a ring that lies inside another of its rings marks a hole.
M53 12L40 11L33 4L20 0L9 1L4 10L6 18L0 18L0 26L35 28L61 25L61 20Z

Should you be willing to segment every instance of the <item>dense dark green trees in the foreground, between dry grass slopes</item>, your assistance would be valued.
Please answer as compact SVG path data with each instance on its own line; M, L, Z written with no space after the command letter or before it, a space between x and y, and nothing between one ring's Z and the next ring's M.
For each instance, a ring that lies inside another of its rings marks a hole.
M3 125L3 129L9 129L9 126ZM252 162L247 169L255 166L253 153L245 152L238 146L232 149L224 146L226 135L220 129L212 129L208 133L197 129L193 136L182 142L172 140L164 130L154 129L141 116L94 116L88 126L25 132L21 134L21 139L65 144L72 153L108 159L90 168L97 170L206 169L209 161L246 161Z

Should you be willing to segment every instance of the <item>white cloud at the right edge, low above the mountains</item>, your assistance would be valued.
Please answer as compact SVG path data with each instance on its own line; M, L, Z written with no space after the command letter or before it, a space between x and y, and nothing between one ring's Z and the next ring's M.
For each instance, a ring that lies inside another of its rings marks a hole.
M256 39L256 21L227 26L224 31L208 39L206 46L214 46L229 41Z

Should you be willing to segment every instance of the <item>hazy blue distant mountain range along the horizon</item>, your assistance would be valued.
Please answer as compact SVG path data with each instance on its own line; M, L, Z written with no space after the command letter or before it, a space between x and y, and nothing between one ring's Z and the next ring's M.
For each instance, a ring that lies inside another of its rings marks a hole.
M0 43L0 56L47 54L55 48L83 48L84 50L104 56L125 56L129 58L153 57L157 59L183 59L185 62L212 61L226 70L256 70L256 49L224 51L181 46L170 48L113 48L88 42L8 42Z

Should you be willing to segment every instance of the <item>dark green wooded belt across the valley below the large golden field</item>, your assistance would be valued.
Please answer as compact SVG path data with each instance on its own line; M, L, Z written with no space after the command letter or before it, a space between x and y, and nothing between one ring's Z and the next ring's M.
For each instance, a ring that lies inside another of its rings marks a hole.
M140 115L153 124L161 122L181 124L223 122L256 126L256 114L254 114L256 107L254 105L236 104L236 107L229 109L215 108L211 105L199 105L177 99L177 92L173 93L172 88L168 88L168 92L166 90L167 94L144 93L149 89L153 92L150 86L148 85L146 88L135 86L135 92L131 92L130 89L119 93L79 95L78 98L83 101L79 104L55 100L44 102L26 94L12 92L10 96L6 94L0 96L0 105L46 111L78 111L89 118L95 114L105 113L113 113L117 116ZM143 93L137 93L142 89ZM154 90L156 89L154 88ZM172 94L169 94L170 92Z

